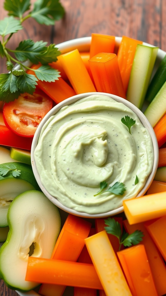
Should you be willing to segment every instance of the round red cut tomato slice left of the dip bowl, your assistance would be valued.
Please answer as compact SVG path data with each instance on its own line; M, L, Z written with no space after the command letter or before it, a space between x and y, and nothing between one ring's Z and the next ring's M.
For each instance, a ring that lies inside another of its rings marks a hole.
M13 102L4 104L4 123L17 135L33 137L40 121L52 107L53 100L36 89L32 95L21 94Z

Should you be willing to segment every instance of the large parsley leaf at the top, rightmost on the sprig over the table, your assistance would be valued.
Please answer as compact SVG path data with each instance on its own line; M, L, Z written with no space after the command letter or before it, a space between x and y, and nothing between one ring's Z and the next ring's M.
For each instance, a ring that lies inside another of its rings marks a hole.
M59 0L37 0L30 15L39 24L54 25L55 20L63 17L64 8Z

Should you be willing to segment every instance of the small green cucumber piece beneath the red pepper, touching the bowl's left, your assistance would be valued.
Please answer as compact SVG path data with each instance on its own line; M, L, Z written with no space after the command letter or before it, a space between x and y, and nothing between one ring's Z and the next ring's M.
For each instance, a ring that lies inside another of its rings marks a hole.
M11 147L10 157L13 160L17 160L19 162L27 163L28 165L31 165L30 151L28 150Z

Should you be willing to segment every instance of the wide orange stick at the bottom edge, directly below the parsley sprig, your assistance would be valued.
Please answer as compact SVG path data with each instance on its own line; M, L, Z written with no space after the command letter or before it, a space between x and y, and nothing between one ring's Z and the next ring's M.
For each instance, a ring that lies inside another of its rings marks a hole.
M144 245L117 252L132 296L158 296Z

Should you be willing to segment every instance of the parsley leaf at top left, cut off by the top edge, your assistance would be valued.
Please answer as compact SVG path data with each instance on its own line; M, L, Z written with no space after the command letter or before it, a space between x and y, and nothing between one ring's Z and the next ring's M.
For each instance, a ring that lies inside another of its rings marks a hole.
M5 0L4 9L9 11L8 15L22 18L24 12L30 9L30 0Z

